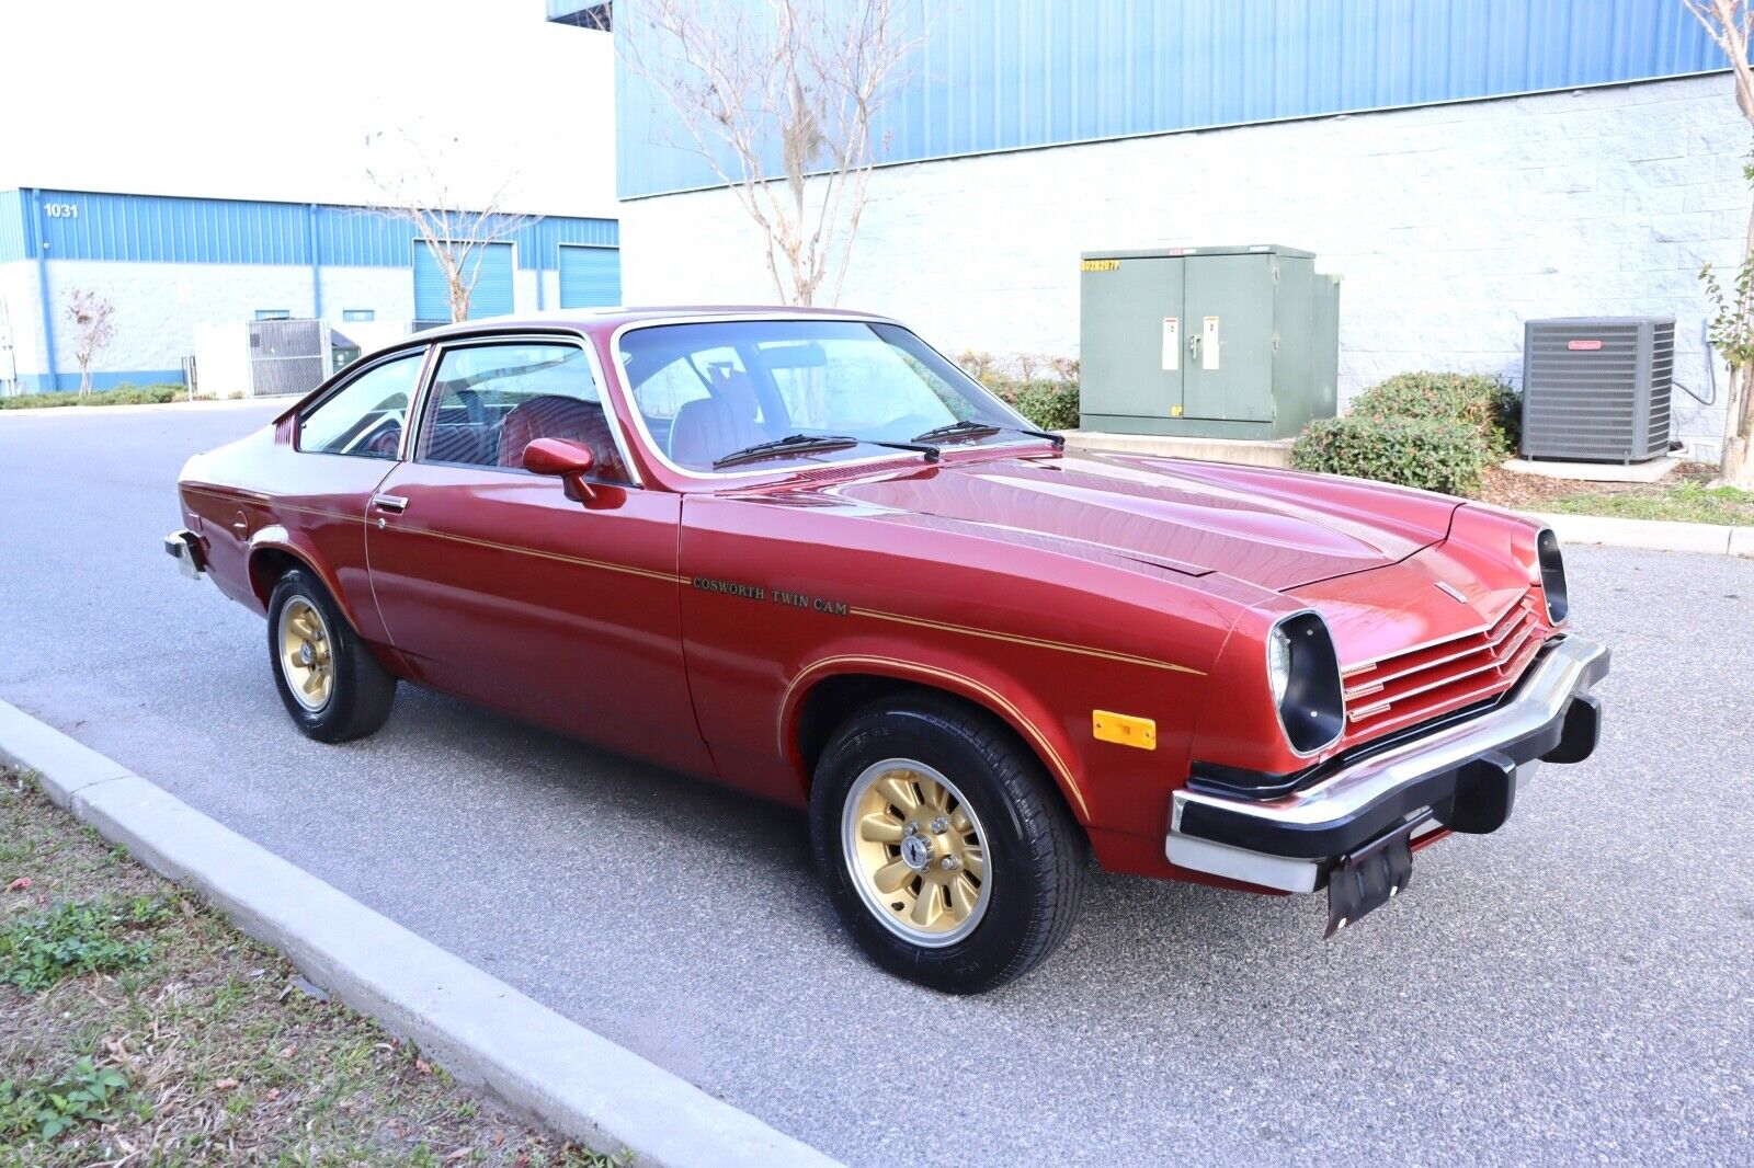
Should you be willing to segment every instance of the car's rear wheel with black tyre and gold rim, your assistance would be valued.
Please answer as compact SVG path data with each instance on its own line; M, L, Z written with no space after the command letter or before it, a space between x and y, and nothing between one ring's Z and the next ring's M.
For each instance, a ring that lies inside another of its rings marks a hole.
M307 568L293 568L268 598L274 686L293 723L317 742L361 738L389 717L391 677Z

